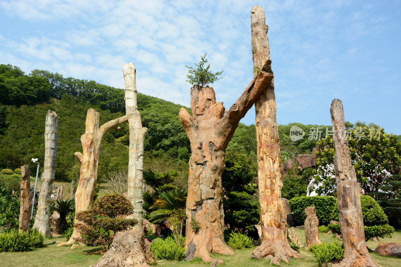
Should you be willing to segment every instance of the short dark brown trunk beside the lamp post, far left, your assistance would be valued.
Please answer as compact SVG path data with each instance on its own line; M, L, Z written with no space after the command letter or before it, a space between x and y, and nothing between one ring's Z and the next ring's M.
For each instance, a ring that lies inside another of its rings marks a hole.
M21 167L21 207L20 207L20 232L29 230L31 223L31 179L29 175L29 165Z

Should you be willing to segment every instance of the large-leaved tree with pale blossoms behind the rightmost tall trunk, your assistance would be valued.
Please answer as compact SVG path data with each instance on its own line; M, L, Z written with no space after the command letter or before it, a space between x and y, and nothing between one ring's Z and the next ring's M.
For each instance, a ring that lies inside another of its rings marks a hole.
M365 193L377 192L389 176L401 174L401 142L397 141L397 136L385 133L374 124L367 127L363 123L357 123L348 134L352 165ZM319 141L318 145L328 145L328 148L316 151L315 178L322 184L317 191L335 195L336 181L331 167L334 162L333 139L329 136Z

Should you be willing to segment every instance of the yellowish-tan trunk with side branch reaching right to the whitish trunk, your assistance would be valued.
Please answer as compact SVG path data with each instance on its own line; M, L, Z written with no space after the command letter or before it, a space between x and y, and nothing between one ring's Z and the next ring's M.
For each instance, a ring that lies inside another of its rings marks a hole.
M99 149L103 135L110 129L115 128L117 125L126 122L127 116L123 116L111 121L106 122L100 126L99 112L94 109L89 109L86 114L85 134L81 136L82 153L75 152L75 156L81 163L81 170L77 191L75 193L75 214L80 211L92 208L93 196L95 194L95 187L97 182L97 168L99 164ZM82 223L75 219L75 224ZM72 244L80 237L81 234L77 227L74 227L73 234L70 240L58 244L67 245Z

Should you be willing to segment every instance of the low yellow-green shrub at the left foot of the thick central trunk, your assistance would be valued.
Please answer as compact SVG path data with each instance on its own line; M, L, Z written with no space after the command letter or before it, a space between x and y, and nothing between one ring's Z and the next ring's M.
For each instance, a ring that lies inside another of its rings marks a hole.
M185 248L178 245L171 236L164 239L158 238L150 244L150 248L157 259L182 260L184 258Z

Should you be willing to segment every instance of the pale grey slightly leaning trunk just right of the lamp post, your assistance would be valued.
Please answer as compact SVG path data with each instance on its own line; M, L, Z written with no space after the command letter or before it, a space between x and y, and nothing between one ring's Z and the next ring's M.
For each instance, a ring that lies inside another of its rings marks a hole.
M33 228L43 235L50 233L50 196L52 195L54 174L56 172L57 156L57 114L49 110L46 116L45 128L45 162L41 178L41 193L38 199L38 211Z

